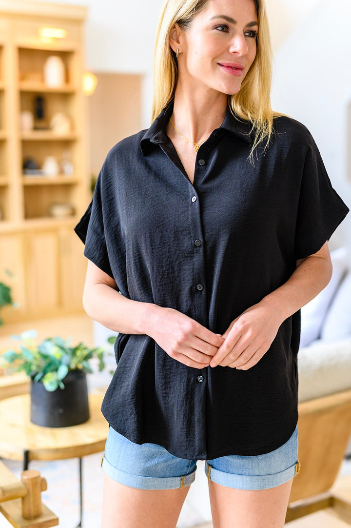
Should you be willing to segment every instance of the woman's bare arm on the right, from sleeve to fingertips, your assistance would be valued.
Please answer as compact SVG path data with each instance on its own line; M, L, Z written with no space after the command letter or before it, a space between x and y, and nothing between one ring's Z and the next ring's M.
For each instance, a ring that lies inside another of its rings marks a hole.
M328 243L306 259L280 288L245 310L223 334L225 341L211 366L248 370L268 351L279 326L327 286L333 268Z

